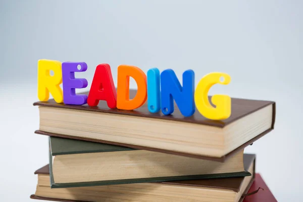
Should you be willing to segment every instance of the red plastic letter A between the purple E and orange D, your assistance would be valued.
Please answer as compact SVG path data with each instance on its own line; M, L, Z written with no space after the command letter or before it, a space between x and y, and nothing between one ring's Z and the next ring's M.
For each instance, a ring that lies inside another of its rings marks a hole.
M117 107L117 92L109 64L100 64L96 67L87 98L87 105L95 107L98 105L99 100L106 100L108 107L111 109Z

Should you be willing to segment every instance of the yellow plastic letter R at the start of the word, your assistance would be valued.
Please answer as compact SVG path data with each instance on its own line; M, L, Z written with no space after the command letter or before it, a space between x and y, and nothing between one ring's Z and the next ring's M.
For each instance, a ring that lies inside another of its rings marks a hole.
M53 70L54 75L50 74ZM56 103L63 103L61 62L52 60L38 61L38 98L40 101L47 101L49 92L53 95Z

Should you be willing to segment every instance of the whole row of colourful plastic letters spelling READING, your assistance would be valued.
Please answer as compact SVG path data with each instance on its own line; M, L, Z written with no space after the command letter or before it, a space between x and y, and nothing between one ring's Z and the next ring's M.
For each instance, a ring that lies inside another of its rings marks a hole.
M80 68L78 68L80 67ZM95 107L99 100L105 100L111 109L135 110L147 102L150 113L164 115L174 112L174 100L184 117L194 114L195 108L204 117L212 120L223 120L230 117L231 98L228 95L216 94L209 102L208 92L215 84L229 84L231 78L226 73L212 72L202 77L194 88L194 72L186 70L180 84L175 72L167 69L161 72L152 68L145 74L140 68L130 65L118 66L117 90L114 85L109 64L99 64L94 72L90 90L87 95L76 94L76 88L86 88L85 78L75 78L75 72L85 72L85 62L64 62L53 60L38 61L38 98L41 102L49 99L49 93L56 103L66 105L85 105ZM51 71L54 75L51 75ZM147 76L146 76L147 75ZM137 92L129 99L129 78L137 83ZM221 81L220 78L224 80ZM62 84L63 89L61 89Z

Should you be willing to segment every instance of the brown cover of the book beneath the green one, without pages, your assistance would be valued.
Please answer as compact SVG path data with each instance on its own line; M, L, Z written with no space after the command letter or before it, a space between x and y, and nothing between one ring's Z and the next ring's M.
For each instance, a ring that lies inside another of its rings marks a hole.
M254 163L252 178L246 187L243 196L248 193L248 190L255 179L255 166L256 166L256 155L245 154L248 158L245 159L244 165L245 169L248 170L250 165ZM35 171L35 174L46 174L49 175L49 165L45 165L44 167ZM192 187L208 187L208 188L219 188L232 190L235 192L239 192L241 188L241 184L243 183L244 177L236 177L236 178L220 178L220 179L201 179L201 180L181 180L181 181L168 181L168 182L154 182L154 183L162 183L162 184L172 184L172 185L184 185L184 186L192 186ZM243 201L244 197L241 197L239 202ZM90 202L83 200L71 200L71 199L61 199L61 198L49 198L43 196L37 196L32 194L30 196L33 199L41 199L41 200L53 200L53 201L67 201L67 202Z

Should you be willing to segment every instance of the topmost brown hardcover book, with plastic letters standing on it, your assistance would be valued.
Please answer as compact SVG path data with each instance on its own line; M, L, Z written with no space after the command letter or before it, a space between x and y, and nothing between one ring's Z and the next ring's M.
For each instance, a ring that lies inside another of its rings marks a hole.
M135 94L130 90L130 97ZM221 162L275 124L275 102L241 98L231 98L231 115L225 120L207 119L197 110L184 117L177 106L169 116L150 113L146 103L132 111L110 109L102 100L96 107L58 104L54 99L34 106L39 106L38 134Z

